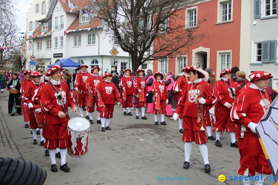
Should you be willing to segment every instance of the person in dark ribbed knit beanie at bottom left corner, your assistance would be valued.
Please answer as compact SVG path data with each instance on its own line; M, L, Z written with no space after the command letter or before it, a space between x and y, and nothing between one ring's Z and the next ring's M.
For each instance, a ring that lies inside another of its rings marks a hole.
M0 157L1 185L45 185L46 171L27 160Z

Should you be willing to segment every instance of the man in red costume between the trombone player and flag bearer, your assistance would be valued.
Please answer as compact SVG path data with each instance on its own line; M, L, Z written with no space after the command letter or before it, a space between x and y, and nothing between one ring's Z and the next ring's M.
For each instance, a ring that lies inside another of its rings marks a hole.
M220 134L226 129L231 137L230 147L238 148L237 141L235 140L235 122L231 120L230 112L235 98L239 95L239 88L237 88L235 82L231 80L232 73L234 72L229 68L223 69L220 73L221 80L214 84L213 92L217 100L214 107L216 120L213 130L215 131L215 145L217 147L222 147L220 143Z

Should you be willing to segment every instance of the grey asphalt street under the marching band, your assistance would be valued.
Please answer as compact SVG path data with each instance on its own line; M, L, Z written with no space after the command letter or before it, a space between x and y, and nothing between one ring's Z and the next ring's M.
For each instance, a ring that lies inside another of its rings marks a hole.
M184 144L179 133L178 121L166 118L167 126L154 125L154 117L147 113L147 120L136 120L123 115L116 105L114 117L110 120L111 130L101 131L96 123L90 125L89 152L83 158L67 155L66 162L71 169L66 173L59 170L60 159L56 158L58 172L50 171L50 159L44 155L43 146L33 145L30 128L24 128L22 115L8 114L7 90L0 94L0 156L33 161L47 171L47 184L219 184L218 176L226 176L225 184L242 184L230 181L230 176L239 176L239 151L230 147L229 133L220 137L222 148L215 141L207 143L211 172L205 173L203 158L198 145L193 143L190 168L183 169ZM141 111L141 109L140 109ZM85 111L83 111L85 115ZM70 118L79 117L69 110ZM139 112L141 117L141 112ZM160 122L160 116L158 118ZM162 180L166 179L184 180ZM180 177L180 178L179 178ZM161 180L160 180L161 179ZM265 181L264 184L273 184ZM251 183L252 184L252 183ZM254 184L254 181L253 181Z

